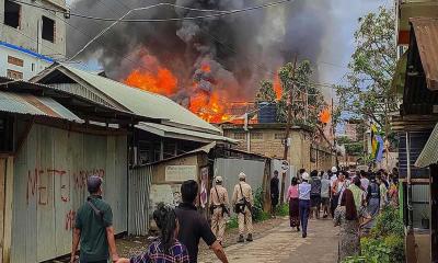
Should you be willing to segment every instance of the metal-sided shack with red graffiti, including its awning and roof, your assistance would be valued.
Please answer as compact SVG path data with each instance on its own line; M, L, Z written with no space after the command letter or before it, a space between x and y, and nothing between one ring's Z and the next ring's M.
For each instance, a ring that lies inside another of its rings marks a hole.
M116 233L128 228L128 134L140 121L44 84L0 78L0 262L68 254L87 178L104 178Z

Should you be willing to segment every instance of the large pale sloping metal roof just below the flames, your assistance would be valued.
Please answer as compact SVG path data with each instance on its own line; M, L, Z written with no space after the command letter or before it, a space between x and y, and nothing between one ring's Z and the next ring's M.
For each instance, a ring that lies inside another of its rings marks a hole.
M199 118L196 114L166 96L135 89L112 79L93 75L67 65L61 65L58 68L53 67L53 70L62 68L82 79L91 87L105 93L107 96L112 98L114 101L135 114L151 118L168 119L170 123L175 123L188 129L198 129L200 132L218 135L221 134L220 129ZM46 72L43 71L35 80L44 79L44 77L49 75L53 70L49 68Z

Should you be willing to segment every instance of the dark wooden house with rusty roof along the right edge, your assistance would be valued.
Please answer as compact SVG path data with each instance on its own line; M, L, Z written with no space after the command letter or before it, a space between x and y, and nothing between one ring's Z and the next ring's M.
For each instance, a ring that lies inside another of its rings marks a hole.
M438 262L437 176L434 159L438 122L438 19L411 18L408 50L394 81L402 92L399 133L401 213L406 227L406 262ZM435 193L435 194L434 194Z

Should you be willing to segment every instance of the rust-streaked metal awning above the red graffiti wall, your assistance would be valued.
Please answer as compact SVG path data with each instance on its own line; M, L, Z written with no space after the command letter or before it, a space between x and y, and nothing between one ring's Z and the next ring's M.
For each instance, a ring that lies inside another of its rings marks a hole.
M0 91L0 111L37 116L64 118L82 123L82 119L51 98Z

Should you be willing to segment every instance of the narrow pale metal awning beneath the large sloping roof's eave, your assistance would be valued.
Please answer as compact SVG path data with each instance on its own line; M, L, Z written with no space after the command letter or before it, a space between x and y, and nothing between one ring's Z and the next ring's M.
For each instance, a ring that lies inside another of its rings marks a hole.
M238 144L238 140L220 136L220 135L214 135L214 134L207 134L207 133L200 133L200 132L195 132L195 130L189 130L189 129L183 129L183 128L176 128L163 124L155 124L155 123L139 123L136 125L137 128L146 130L148 133L166 137L166 138L176 138L176 139L188 139L188 140L194 140L194 141L214 141L214 140L219 140L219 141L227 141L231 144Z

